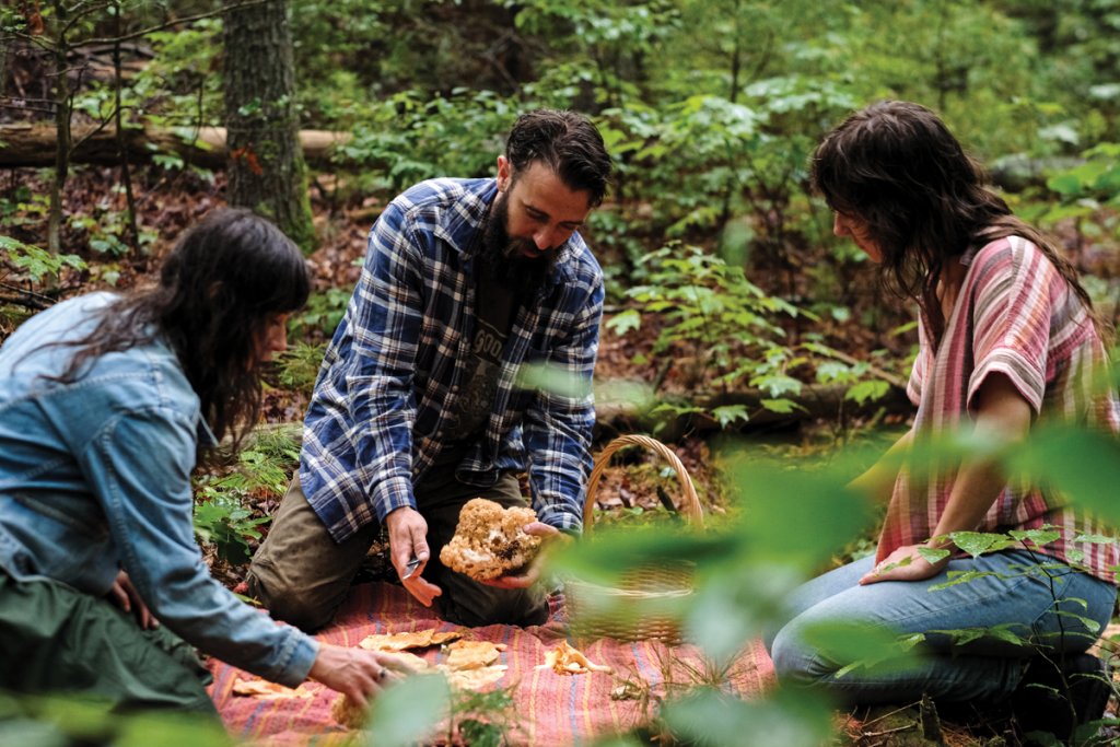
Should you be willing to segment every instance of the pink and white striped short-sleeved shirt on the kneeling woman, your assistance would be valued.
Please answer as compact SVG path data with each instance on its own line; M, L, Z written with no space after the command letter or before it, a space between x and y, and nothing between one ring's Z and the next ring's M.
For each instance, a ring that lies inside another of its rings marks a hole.
M1011 236L967 253L963 286L939 349L932 349L925 320L921 349L907 394L917 405L918 438L949 433L968 426L974 398L988 374L999 372L1015 384L1039 418L1062 418L1120 432L1120 404L1114 393L1094 390L1094 375L1107 365L1104 346L1076 293L1032 242ZM879 538L878 560L895 549L930 539L949 502L956 468L935 477L912 479L903 470L895 483ZM1075 566L1116 582L1120 563L1116 543L1073 543L1085 534L1111 534L1095 520L1072 507L1054 491L1009 484L992 504L980 532L1008 532L1053 524L1062 539L1042 550L1070 562L1076 547L1084 553Z

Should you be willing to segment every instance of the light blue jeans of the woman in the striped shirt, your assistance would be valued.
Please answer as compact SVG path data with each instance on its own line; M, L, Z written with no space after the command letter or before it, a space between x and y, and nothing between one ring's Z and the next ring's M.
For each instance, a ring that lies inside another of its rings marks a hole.
M874 558L857 560L791 595L788 622L766 636L783 684L821 689L847 704L907 702L923 694L945 702L997 702L1015 691L1025 660L1037 646L1065 653L1086 651L1109 622L1117 597L1111 583L1025 550L952 560L939 576L924 581L859 586L860 577L872 566ZM950 570L991 571L1001 577L986 576L931 590L949 580ZM1095 620L1100 627L1089 631L1081 617ZM899 666L888 661L837 676L855 662L838 661L814 648L804 635L829 623L865 624L897 635L924 633L926 641L913 664ZM993 636L958 645L951 636L936 633L1001 624L1012 624L1012 632L1028 638L1029 645Z

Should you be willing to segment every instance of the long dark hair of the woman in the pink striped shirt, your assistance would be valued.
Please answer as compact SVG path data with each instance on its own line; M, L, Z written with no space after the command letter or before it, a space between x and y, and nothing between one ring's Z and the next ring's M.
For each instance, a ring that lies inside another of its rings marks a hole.
M916 298L935 337L945 324L936 300L945 261L1012 235L1046 254L1096 328L1108 332L1054 241L1011 213L986 185L983 168L925 106L883 101L850 115L816 147L810 179L832 209L867 223L883 252L880 283Z

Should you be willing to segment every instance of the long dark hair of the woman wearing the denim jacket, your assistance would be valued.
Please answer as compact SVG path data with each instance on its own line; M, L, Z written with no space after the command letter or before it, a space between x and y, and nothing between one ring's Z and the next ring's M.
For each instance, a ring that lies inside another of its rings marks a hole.
M245 209L211 212L164 261L159 284L105 307L60 381L80 379L91 360L164 335L202 400L214 435L234 448L261 410L260 346L270 318L307 301L310 278L299 249ZM200 459L212 450L199 443Z

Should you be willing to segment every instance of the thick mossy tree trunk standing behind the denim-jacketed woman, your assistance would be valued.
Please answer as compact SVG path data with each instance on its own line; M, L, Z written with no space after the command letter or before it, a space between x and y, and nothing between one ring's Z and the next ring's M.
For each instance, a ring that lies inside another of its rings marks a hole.
M227 202L270 217L310 252L315 228L297 136L288 2L230 10L224 24Z

